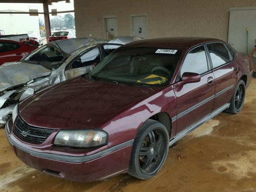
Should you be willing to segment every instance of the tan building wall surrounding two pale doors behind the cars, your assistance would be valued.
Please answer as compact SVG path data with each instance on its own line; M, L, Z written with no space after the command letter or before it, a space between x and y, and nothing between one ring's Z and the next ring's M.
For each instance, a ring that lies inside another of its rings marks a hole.
M103 16L116 15L118 36L130 36L130 14L148 15L148 38L204 36L228 40L231 7L256 0L74 0L76 36L104 38Z

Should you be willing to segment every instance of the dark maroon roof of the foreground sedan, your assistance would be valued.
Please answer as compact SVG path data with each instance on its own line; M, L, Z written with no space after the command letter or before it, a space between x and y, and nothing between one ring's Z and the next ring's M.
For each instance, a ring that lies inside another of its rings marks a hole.
M168 38L156 38L139 40L124 45L125 47L159 47L159 48L175 48L175 49L188 49L190 47L202 44L205 42L221 41L215 38L203 38L203 37L168 37Z

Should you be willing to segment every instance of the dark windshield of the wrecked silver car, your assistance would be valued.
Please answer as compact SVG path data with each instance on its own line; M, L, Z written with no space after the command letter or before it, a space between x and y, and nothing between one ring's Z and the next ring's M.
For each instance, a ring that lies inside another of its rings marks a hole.
M61 52L58 48L52 44L46 44L41 48L37 49L35 52L26 56L22 61L40 64L45 68L52 70L59 62L65 58L66 54ZM53 64L55 62L55 64Z

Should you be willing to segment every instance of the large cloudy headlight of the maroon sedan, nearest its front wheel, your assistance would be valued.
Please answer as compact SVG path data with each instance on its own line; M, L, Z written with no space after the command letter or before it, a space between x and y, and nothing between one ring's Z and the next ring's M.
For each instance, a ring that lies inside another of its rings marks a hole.
M98 147L107 144L108 135L101 130L60 130L54 145L76 148Z

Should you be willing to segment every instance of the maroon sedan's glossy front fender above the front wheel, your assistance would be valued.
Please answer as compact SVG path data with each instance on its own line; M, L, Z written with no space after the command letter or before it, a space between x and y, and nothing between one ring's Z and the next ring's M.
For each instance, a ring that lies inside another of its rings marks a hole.
M170 138L172 138L176 132L176 100L172 86L158 90L148 98L134 103L132 107L106 120L98 128L108 132L110 148L124 140L134 139L140 126L148 118L161 112L165 112L170 118Z

